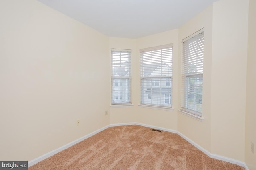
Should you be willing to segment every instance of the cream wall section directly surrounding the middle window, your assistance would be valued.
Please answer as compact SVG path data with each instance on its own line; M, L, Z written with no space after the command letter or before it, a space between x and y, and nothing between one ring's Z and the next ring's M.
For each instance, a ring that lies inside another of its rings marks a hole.
M172 101L174 111L165 111L159 109L149 109L138 107L136 121L143 124L164 127L177 130L177 96L178 96L178 29L166 31L137 39L137 49L155 47L159 45L173 44L173 89ZM139 63L139 54L137 62ZM139 74L139 68L138 74ZM139 81L139 78L136 79ZM140 83L137 83L140 85ZM136 98L140 98L140 93L135 94ZM139 104L140 101L138 101Z

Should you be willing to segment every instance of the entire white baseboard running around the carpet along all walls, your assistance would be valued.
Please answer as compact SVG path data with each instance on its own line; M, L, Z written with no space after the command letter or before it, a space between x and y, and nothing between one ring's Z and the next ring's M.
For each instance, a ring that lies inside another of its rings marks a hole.
M239 160L234 160L231 158L227 158L224 156L220 156L217 154L212 154L210 153L208 150L204 149L203 147L201 147L200 145L198 145L197 143L195 143L194 141L192 141L191 139L189 139L188 137L186 137L185 135L183 135L182 133L180 133L179 131L176 130L172 130L172 129L167 129L167 128L163 128L163 127L158 127L158 126L153 126L153 125L147 125L147 124L143 124L143 123L137 123L137 122L131 122L131 123L116 123L116 124L110 124L107 125L105 127L102 127L101 129L98 129L92 133L89 133L88 135L85 135L84 137L80 137L79 139L76 139L75 141L72 141L62 147L59 147L55 150L52 150L51 152L48 152L42 156L39 156L38 158L35 158L31 161L28 162L28 167L46 159L49 158L50 156L53 156L54 154L65 150L69 147L71 147L72 145L75 145L76 143L79 143L80 141L83 141L84 139L87 139L88 137L91 137L92 135L95 135L105 129L107 129L108 127L114 127L114 126L124 126L124 125L140 125L140 126L145 126L145 127L150 127L150 128L154 128L154 129L159 129L159 130L163 130L163 131L168 131L168 132L172 132L172 133L177 133L178 135L180 135L181 137L183 137L184 139L186 139L189 143L191 143L192 145L194 145L196 148L198 148L199 150L201 150L202 152L204 152L206 155L208 155L210 158L214 158L214 159L218 159L218 160L223 160L225 162L230 162L232 164L236 164L239 166L244 167L246 170L249 170L249 168L247 167L247 165L245 164L245 162L239 161Z

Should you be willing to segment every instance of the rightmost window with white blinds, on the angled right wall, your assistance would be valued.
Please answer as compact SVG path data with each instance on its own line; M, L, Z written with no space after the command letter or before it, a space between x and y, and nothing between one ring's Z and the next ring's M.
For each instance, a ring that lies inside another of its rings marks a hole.
M203 30L182 41L181 110L202 117L203 101Z

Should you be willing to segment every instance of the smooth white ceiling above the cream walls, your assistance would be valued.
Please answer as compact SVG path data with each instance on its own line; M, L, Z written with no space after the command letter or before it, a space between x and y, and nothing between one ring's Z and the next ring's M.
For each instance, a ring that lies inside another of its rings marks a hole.
M176 29L218 0L38 0L110 37Z

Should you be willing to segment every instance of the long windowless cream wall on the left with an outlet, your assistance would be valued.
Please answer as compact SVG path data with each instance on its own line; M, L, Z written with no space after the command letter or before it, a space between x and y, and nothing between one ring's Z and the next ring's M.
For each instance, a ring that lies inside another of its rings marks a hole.
M109 124L106 35L36 0L1 0L0 21L0 160L32 160Z

